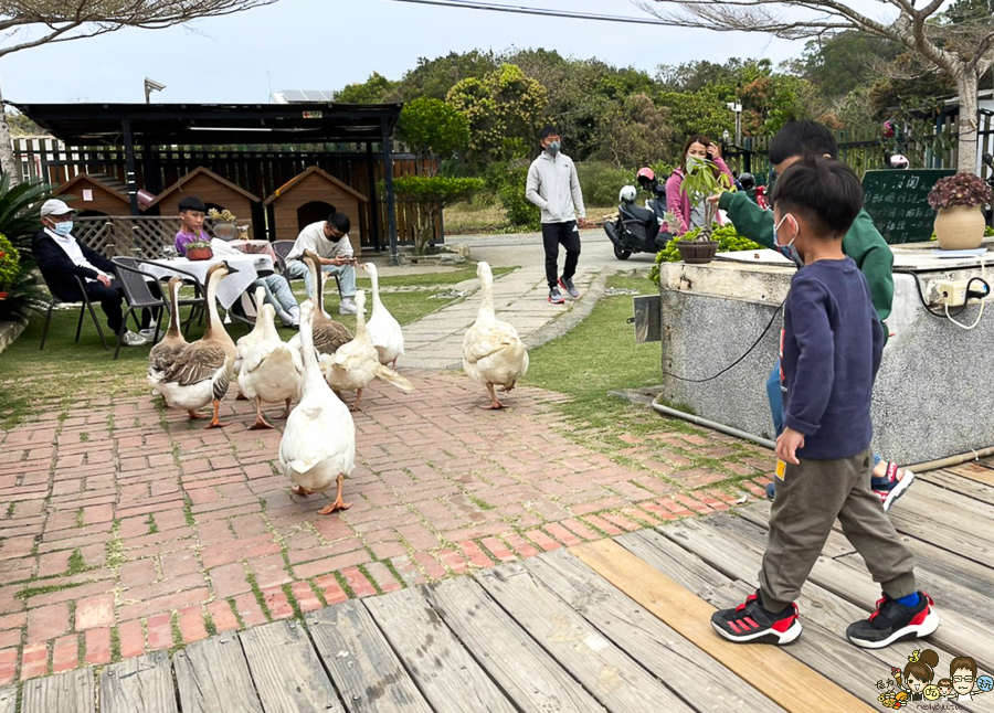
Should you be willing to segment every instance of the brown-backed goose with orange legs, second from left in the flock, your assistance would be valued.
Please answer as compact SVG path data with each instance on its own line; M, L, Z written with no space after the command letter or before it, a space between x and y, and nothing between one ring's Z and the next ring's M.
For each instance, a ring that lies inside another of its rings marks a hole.
M237 270L228 263L218 263L208 270L208 326L198 341L188 344L166 371L158 391L172 408L186 408L190 418L207 418L198 408L214 404L214 416L208 428L226 426L219 421L221 400L228 392L237 350L224 331L218 316L218 283Z

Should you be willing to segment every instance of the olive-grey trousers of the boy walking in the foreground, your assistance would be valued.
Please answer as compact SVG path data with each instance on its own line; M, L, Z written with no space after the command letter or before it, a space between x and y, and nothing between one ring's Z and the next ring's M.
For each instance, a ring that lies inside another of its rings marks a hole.
M869 448L850 458L786 464L783 480L776 480L760 570L764 609L782 611L797 598L836 518L889 597L917 590L914 557L898 540L880 498L870 490L873 464Z

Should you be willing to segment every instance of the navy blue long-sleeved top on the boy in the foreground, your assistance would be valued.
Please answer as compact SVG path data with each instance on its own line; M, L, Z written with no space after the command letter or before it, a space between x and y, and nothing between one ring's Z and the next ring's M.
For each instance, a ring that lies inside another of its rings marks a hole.
M783 423L805 436L797 457L859 454L873 438L884 330L856 263L846 257L802 267L791 280L783 327Z

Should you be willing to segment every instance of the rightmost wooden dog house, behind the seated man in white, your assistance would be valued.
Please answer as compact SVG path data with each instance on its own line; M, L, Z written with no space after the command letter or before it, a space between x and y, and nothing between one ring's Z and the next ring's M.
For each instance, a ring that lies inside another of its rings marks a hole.
M269 225L273 240L293 241L300 231L318 221L328 219L331 206L349 216L352 227L349 237L358 253L366 244L366 204L362 193L347 183L311 166L276 189L264 205L272 211Z

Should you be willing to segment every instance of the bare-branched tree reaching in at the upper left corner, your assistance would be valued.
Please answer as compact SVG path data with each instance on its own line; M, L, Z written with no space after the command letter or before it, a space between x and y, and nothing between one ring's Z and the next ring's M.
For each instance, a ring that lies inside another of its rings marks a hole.
M210 18L276 0L33 0L0 3L0 32L8 43L0 57L53 42L68 42L115 32L123 28L159 30L200 18ZM40 31L29 35L29 28ZM20 41L17 40L18 35ZM10 41L12 40L13 41ZM0 96L0 166L17 183L20 171L10 146L10 126Z

